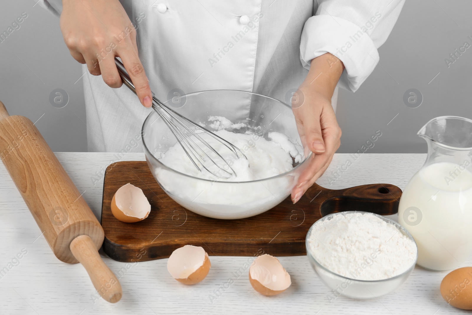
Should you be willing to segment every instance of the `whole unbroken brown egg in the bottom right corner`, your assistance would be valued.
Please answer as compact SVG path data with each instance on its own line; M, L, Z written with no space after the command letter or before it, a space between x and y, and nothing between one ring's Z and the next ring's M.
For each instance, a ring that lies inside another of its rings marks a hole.
M449 272L441 281L441 295L450 305L472 309L472 267Z

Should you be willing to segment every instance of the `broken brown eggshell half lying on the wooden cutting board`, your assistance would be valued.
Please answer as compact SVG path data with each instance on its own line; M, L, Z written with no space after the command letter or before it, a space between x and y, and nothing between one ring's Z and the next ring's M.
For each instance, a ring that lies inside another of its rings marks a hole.
M133 223L146 219L151 211L151 204L143 190L131 184L119 187L111 199L111 213L119 221Z

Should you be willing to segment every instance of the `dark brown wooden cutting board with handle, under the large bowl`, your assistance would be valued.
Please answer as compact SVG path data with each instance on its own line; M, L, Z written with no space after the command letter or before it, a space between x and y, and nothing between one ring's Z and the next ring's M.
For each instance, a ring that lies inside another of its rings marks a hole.
M151 203L151 213L143 221L124 223L111 213L111 198L127 183L143 189ZM146 162L116 162L105 171L103 184L103 249L121 262L166 258L187 244L202 246L208 255L253 256L262 251L274 256L306 255L306 233L322 216L352 210L394 214L401 194L400 188L390 184L339 190L315 184L297 204L288 197L251 218L211 219L186 210L167 196Z

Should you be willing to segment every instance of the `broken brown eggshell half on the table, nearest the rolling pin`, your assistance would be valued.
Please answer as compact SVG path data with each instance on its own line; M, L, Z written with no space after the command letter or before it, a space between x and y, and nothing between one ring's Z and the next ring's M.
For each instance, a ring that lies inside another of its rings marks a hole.
M172 252L167 261L167 270L179 282L195 284L207 276L211 264L203 247L185 245Z

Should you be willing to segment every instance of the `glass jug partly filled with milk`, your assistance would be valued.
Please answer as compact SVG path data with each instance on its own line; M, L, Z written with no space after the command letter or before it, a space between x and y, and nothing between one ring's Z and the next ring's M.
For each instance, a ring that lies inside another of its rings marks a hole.
M455 269L472 254L472 120L431 119L418 131L428 157L400 198L398 222L430 270Z

